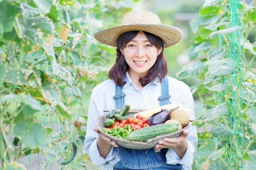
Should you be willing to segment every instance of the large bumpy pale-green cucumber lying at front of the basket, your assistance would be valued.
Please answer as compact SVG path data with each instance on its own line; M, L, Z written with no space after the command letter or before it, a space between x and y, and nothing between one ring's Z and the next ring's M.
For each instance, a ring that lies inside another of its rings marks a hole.
M158 135L165 135L177 131L179 128L177 123L159 124L138 129L127 136L129 141L146 142L148 139Z

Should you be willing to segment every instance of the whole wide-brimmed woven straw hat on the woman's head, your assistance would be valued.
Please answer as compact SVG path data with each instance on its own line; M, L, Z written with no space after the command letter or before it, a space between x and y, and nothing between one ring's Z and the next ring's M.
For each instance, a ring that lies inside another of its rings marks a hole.
M162 38L165 47L170 47L180 41L182 31L178 27L162 25L160 18L148 11L132 11L127 13L121 25L103 29L93 36L98 41L116 47L119 35L127 31L146 31Z

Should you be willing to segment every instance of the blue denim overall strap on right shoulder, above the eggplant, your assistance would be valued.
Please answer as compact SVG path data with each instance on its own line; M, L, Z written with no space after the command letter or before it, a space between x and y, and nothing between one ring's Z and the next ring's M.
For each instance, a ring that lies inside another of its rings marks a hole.
M170 102L170 94L169 94L169 81L168 81L168 76L165 78L162 78L162 83L161 83L161 96L158 97L158 100L160 102L160 106L164 106L166 104L171 104Z

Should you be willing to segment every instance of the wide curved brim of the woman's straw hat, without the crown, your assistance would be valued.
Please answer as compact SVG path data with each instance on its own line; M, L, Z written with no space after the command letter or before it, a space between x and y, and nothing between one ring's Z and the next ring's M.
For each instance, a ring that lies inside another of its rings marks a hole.
M152 33L162 38L165 47L178 43L183 35L181 29L171 25L132 24L103 29L96 32L93 37L104 44L116 47L118 37L127 31L146 31Z

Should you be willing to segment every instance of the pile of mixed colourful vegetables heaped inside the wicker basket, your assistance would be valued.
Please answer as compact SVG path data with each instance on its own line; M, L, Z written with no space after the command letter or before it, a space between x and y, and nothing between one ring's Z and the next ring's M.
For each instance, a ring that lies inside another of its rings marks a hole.
M158 135L180 130L188 124L187 112L178 108L161 109L150 117L148 113L143 117L138 113L126 115L130 110L130 105L126 105L120 111L109 111L102 130L120 139L146 142Z

